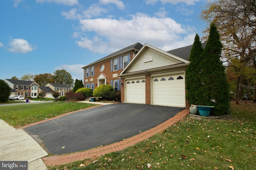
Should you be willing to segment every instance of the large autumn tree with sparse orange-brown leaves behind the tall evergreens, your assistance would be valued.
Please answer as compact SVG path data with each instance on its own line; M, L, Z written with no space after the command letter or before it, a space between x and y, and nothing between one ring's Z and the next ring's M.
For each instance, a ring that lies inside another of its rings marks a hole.
M235 70L236 97L241 98L244 89L240 84L244 84L247 76L244 68L252 65L256 69L255 0L209 1L201 12L201 19L218 27L224 42L223 56Z

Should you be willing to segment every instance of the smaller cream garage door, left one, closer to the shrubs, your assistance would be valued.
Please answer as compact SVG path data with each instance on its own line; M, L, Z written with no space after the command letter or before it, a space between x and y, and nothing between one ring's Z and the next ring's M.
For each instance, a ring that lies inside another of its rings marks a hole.
M137 78L126 80L126 102L131 103L146 103L145 95L145 78Z

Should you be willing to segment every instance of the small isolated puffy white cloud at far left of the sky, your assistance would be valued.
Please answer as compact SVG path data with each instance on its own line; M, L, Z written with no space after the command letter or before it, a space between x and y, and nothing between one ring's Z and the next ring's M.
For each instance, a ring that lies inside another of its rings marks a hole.
M36 47L29 44L25 39L11 39L9 46L8 51L12 53L28 53L36 49Z

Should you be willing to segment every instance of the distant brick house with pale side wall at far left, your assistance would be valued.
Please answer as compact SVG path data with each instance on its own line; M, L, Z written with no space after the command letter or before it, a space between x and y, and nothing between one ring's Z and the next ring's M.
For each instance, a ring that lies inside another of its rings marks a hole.
M39 94L39 84L36 82L12 79L4 79L4 81L12 90L16 91L12 92L12 94L15 93L15 95L28 96L31 98L37 98Z

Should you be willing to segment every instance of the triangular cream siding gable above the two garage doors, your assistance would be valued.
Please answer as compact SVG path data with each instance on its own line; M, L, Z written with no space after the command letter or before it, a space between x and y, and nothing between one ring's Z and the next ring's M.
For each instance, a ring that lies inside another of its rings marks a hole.
M140 56L138 61L132 66L132 68L130 68L128 72L148 70L151 68L169 66L169 65L174 65L178 63L181 63L181 62L176 59L173 59L170 56L159 53L154 49L148 49L145 51L145 53L142 56Z

